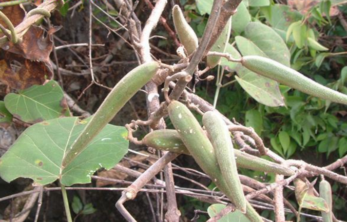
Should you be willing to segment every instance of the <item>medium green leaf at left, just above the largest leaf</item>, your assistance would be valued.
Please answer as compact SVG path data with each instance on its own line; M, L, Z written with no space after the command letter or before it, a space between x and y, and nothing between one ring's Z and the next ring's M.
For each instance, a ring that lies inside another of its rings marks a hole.
M70 115L63 90L54 80L20 90L18 94L9 93L4 102L13 116L30 124Z

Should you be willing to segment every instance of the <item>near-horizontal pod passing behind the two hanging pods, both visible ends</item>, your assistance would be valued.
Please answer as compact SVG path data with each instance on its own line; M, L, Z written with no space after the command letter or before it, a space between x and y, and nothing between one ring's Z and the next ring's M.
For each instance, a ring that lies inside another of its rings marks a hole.
M142 142L147 146L155 149L190 155L176 130L152 131L143 138ZM292 176L295 173L289 167L276 164L269 160L253 156L248 153L244 153L240 150L234 149L234 153L236 165L239 168L267 173L277 173L285 176Z

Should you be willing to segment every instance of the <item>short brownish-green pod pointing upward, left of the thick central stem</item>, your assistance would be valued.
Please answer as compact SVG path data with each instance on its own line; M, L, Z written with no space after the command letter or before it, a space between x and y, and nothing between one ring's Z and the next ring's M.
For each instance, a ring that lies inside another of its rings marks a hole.
M190 55L198 47L198 37L185 20L182 10L178 5L175 5L172 8L172 18L178 38L187 50L188 55Z

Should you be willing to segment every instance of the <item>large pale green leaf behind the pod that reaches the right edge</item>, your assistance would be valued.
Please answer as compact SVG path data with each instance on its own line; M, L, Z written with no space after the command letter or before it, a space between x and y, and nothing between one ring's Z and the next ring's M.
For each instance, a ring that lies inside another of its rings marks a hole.
M261 23L249 23L245 37L235 38L242 55L259 55L269 57L283 65L290 66L290 52L283 39L270 27ZM248 69L238 66L236 77L241 87L259 103L266 106L284 106L278 83L272 79L257 75Z

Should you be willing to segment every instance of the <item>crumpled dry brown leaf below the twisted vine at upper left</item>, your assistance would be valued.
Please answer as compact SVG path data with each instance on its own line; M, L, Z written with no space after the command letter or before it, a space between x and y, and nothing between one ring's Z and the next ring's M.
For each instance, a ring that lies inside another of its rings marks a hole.
M25 13L20 6L5 7L3 12L9 17L14 26L23 21ZM15 89L25 89L32 85L42 85L53 78L53 69L49 55L53 48L49 30L45 31L38 26L31 26L23 36L22 42L11 42L2 46L0 56L0 80Z

